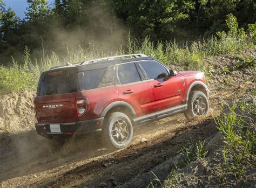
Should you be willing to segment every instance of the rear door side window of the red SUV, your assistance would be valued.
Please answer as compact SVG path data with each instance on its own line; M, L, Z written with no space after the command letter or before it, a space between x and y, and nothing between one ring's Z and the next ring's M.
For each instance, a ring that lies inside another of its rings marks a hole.
M117 82L120 85L142 81L133 62L117 65Z

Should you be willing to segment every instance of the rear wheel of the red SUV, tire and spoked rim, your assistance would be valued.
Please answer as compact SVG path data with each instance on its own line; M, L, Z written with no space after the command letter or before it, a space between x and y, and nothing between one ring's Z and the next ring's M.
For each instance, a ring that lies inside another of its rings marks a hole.
M132 141L133 136L131 120L127 115L120 112L107 115L103 124L103 136L109 149L127 147Z

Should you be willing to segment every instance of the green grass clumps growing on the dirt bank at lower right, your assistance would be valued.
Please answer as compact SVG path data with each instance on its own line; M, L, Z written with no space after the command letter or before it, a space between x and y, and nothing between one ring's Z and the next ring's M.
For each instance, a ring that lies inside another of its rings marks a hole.
M253 158L256 151L255 89L250 93L251 99L240 99L236 100L233 105L223 105L222 113L214 119L224 140L221 160L219 161L221 175L218 177L218 183L222 185L226 185L227 179L230 179L226 178L227 176L240 179L245 174L247 165L255 163L255 158ZM179 164L175 164L176 168L173 168L165 182L160 184L161 187L184 186L179 184L181 179L184 180L184 173L179 173L177 169L184 168L187 164L204 157L211 158L211 156L207 156L205 140L199 140L196 144L182 147L178 153L183 156L183 160ZM151 182L150 186L157 187L157 184Z

